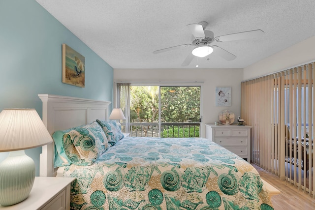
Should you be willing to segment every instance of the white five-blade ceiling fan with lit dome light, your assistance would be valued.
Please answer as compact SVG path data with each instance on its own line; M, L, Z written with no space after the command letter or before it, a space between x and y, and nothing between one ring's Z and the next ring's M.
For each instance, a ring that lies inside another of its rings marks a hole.
M189 55L182 63L182 66L189 65L189 63L194 58L194 56L203 58L211 54L212 52L218 54L225 60L234 60L236 58L235 55L222 49L221 47L217 45L211 45L211 44L213 42L220 43L220 42L225 42L225 41L256 38L264 34L264 31L262 30L250 30L250 31L232 33L232 34L215 37L214 32L212 32L211 30L205 30L207 25L208 23L205 21L202 21L199 24L187 25L188 29L193 35L191 44L182 44L182 45L177 45L173 47L168 47L168 48L156 50L153 53L154 54L164 53L170 50L194 46L193 50L189 52Z

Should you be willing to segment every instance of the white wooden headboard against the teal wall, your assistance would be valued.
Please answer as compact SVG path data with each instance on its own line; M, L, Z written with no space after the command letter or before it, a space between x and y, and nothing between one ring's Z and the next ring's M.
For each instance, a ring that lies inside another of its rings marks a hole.
M43 122L49 133L65 130L99 120L107 120L109 101L61 95L38 94L43 103ZM43 146L40 154L39 176L55 177L54 143Z

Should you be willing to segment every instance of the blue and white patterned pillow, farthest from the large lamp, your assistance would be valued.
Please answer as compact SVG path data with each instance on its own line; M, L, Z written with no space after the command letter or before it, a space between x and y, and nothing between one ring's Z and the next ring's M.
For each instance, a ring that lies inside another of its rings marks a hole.
M96 120L98 124L102 127L107 141L111 146L114 146L119 140L124 138L122 132L122 126L119 122L115 120Z

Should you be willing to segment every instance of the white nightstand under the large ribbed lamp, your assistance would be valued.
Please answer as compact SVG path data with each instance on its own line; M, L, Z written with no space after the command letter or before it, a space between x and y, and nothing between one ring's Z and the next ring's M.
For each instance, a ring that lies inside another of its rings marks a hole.
M69 210L70 183L75 178L35 177L29 197L2 210Z

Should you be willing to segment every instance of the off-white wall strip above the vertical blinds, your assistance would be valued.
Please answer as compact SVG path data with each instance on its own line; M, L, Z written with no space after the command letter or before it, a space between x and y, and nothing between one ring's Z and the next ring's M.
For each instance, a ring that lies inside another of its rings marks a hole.
M244 80L268 75L315 60L315 36L244 68Z

